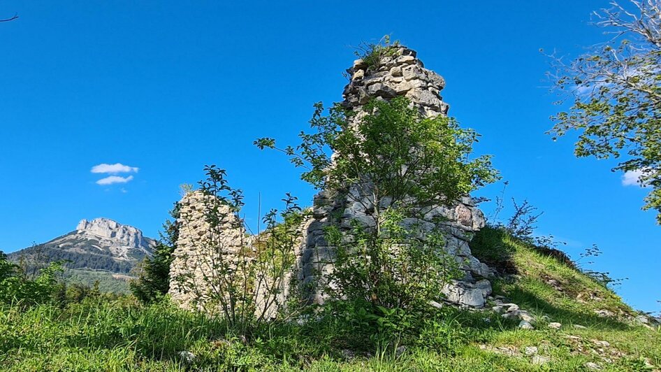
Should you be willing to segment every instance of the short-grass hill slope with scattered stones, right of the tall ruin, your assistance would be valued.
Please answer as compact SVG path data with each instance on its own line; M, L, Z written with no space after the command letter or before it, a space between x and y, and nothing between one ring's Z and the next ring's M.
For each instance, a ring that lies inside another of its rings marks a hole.
M517 370L661 369L658 327L641 324L644 317L637 319L639 313L619 296L574 269L571 262L563 262L564 257L556 252L540 250L491 228L480 231L472 251L506 273L493 280L495 294L506 296L537 319L534 331L507 327L485 331L484 341L469 347L482 346L482 357L500 355L503 368ZM552 329L551 322L562 325ZM536 347L538 353L525 355L526 347ZM546 358L548 362L535 364Z

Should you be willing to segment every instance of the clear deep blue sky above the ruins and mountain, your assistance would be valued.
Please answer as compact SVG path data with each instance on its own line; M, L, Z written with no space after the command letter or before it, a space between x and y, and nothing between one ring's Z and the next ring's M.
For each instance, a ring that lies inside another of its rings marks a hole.
M249 221L259 195L262 210L285 192L310 204L298 171L252 141L294 143L314 102L342 98L353 46L392 34L444 76L450 115L482 134L477 151L494 155L506 197L544 211L539 234L566 241L574 257L596 243L604 254L592 269L628 277L618 293L659 310L661 227L640 210L646 190L624 186L613 162L576 159L572 138L544 134L558 107L539 49L575 56L603 41L588 21L604 6L3 1L0 17L20 19L0 24L0 250L48 241L82 218L157 236L179 185L196 183L205 164L244 189ZM92 167L117 163L138 170L114 175L129 182L97 184L113 174Z

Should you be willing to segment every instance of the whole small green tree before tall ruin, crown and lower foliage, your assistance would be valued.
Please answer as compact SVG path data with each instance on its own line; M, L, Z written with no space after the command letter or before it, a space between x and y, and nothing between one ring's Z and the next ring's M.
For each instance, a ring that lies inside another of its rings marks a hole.
M351 231L328 231L336 250L331 292L379 306L425 302L447 281L438 271L451 272L442 233L429 224L422 231L398 226L423 207L456 203L496 180L497 172L490 157L470 158L478 135L456 120L423 117L403 97L373 100L364 113L335 105L324 115L317 103L310 120L316 132L302 132L296 148L278 148L273 138L255 144L289 155L305 169L303 180L370 214L366 224L354 220Z

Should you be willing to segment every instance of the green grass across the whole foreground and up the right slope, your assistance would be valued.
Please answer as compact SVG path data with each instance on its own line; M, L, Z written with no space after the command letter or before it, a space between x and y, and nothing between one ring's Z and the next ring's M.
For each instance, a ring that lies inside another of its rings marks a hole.
M396 355L379 352L366 329L337 314L307 324L258 327L246 341L219 320L168 303L141 306L130 297L86 299L64 308L44 305L0 312L3 371L603 371L661 369L661 332L630 322L634 311L616 294L530 245L484 229L474 254L513 276L493 280L537 317L536 329L518 329L500 315L445 308L402 334ZM562 291L549 285L560 283ZM595 310L609 310L604 318ZM558 330L547 327L560 322ZM574 324L586 327L574 328ZM607 341L609 346L595 341ZM525 348L548 362L537 365ZM509 355L502 351L509 350ZM188 362L180 352L195 355ZM351 357L349 357L351 354ZM609 361L604 360L608 358ZM646 366L648 365L648 366Z

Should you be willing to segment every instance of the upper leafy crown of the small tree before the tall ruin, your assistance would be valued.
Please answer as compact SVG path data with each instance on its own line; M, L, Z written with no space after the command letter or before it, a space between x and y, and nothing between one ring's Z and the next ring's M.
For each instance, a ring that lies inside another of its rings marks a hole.
M339 104L324 115L315 105L310 125L296 148L278 148L273 138L259 138L258 148L289 155L305 169L301 178L317 189L334 190L374 210L378 234L382 210L452 205L460 196L497 180L491 157L471 159L479 134L459 127L451 117L424 117L405 97L372 100L364 115ZM358 187L358 192L349 192ZM369 196L365 199L363 196ZM384 203L384 201L388 203Z

